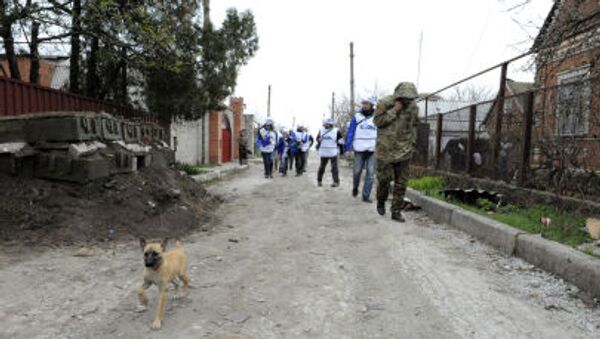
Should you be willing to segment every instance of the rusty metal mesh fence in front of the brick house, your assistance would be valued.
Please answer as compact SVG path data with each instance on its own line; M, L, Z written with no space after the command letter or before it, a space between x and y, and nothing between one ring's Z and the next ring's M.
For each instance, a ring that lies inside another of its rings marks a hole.
M427 116L428 138L419 141L427 144L427 158L416 163L600 198L600 78L512 95L502 87L495 100Z

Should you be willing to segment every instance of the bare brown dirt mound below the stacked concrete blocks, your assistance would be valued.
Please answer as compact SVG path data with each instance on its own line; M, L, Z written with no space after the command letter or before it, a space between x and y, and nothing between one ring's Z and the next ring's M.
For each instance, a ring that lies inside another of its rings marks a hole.
M0 175L0 241L58 245L208 229L219 198L172 169L87 185Z

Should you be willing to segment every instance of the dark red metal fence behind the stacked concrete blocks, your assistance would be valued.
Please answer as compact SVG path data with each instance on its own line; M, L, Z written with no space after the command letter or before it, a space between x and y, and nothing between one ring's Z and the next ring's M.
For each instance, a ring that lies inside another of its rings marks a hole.
M107 112L127 119L156 120L130 107L0 77L0 117L53 111Z

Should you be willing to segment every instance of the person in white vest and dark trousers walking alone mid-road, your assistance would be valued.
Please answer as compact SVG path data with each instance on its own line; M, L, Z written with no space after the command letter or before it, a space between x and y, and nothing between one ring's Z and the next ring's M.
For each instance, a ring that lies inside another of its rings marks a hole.
M328 162L331 162L331 175L333 176L331 187L338 187L340 185L337 160L339 155L338 146L343 142L344 137L342 136L342 132L333 126L333 119L325 119L323 121L323 128L321 128L317 135L318 151L321 157L319 171L317 172L317 184L319 186L323 186L323 174Z

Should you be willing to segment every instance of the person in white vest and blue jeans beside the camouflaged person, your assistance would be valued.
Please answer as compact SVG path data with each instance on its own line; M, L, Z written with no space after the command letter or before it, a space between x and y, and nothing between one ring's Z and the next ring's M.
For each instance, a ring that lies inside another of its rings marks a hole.
M375 103L377 98L370 97L361 102L360 112L357 112L348 127L346 135L346 155L349 157L354 152L354 175L352 181L352 196L358 195L360 177L363 168L366 168L365 183L363 185L362 199L372 203L371 190L375 178L375 145L377 143L377 126L373 121Z

